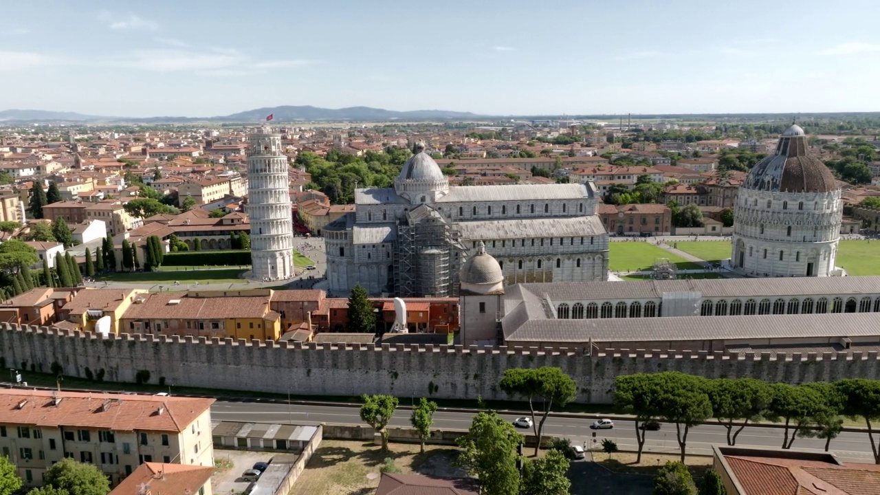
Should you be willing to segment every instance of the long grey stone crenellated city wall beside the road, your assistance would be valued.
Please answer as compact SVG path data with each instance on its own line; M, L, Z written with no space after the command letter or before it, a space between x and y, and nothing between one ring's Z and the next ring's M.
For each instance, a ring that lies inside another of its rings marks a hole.
M753 377L801 383L850 377L880 379L877 352L723 353L583 349L462 348L384 344L299 344L187 336L98 336L0 324L0 366L106 381L251 390L295 395L392 394L456 399L509 399L497 388L504 370L559 366L578 384L577 401L610 403L621 374L679 371L708 378Z

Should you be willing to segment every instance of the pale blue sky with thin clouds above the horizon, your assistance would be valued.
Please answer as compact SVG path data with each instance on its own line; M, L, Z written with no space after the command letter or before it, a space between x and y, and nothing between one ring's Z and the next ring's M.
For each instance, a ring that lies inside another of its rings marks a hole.
M4 5L0 109L880 111L876 0Z

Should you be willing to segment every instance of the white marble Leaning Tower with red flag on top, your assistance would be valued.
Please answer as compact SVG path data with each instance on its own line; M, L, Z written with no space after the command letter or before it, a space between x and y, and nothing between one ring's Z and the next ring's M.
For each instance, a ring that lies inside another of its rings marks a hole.
M250 136L247 154L247 215L251 221L253 278L293 276L293 220L287 157L281 135L262 128Z

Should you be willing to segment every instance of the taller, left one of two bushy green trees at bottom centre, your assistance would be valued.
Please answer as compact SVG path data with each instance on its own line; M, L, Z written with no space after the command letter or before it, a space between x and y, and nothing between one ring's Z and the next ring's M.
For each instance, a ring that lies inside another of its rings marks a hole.
M519 493L517 447L523 440L523 435L495 411L480 411L466 435L456 440L462 448L457 463L478 478L483 495Z

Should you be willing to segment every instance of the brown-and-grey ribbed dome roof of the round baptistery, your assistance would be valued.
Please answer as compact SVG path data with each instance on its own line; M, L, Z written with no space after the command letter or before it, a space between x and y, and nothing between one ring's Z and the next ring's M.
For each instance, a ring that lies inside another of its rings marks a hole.
M782 132L775 153L752 167L743 187L783 193L827 193L840 188L831 170L808 154L807 137L797 125Z

